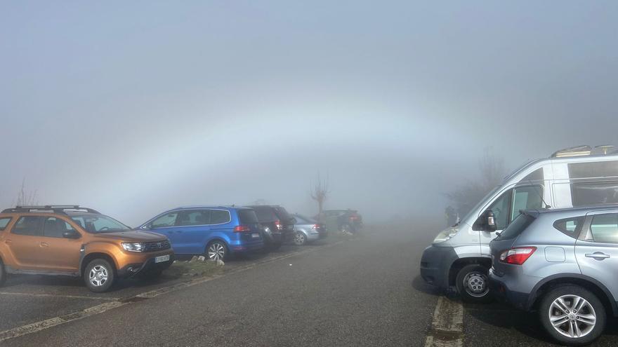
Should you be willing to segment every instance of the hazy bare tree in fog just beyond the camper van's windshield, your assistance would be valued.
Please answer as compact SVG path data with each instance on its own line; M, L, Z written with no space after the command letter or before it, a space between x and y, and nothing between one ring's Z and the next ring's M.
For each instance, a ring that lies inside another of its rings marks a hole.
M460 216L468 213L485 194L500 184L504 177L504 161L494 156L489 149L485 149L478 168L479 177L468 179L466 184L446 194Z

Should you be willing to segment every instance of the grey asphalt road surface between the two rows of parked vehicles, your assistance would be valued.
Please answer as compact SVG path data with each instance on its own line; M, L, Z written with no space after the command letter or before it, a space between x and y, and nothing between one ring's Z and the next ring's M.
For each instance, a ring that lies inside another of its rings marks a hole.
M94 295L75 280L10 280L0 288L0 331L124 304L0 345L551 346L534 315L500 304L462 305L425 285L419 261L437 227L423 230L373 228L343 242L287 246L228 262L217 278L129 303L122 298L177 283L129 282ZM438 332L440 315L461 315L461 332ZM616 326L611 321L596 345L615 346Z

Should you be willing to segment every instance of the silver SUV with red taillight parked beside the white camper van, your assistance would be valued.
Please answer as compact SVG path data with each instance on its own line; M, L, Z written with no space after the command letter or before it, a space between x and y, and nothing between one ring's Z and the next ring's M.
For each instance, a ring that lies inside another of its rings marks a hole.
M591 343L618 316L618 205L523 211L490 248L494 294L558 342Z

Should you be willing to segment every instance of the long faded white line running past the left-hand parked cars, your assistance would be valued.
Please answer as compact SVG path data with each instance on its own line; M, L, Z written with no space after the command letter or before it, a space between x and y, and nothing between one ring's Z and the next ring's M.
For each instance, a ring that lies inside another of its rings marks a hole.
M166 294L166 293L169 293L169 292L174 292L174 291L180 290L182 288L192 287L194 285L199 285L200 283L205 283L205 282L208 282L208 281L211 281L211 280L216 280L217 278L224 277L225 275L230 275L232 273L239 273L239 272L242 272L242 271L249 270L251 268L255 268L256 266L272 263L272 262L277 261L277 260L282 260L282 259L287 259L287 258L291 258L291 257L296 257L296 256L301 255L301 254L315 252L317 250L321 250L322 248L333 247L333 246L339 245L341 243L343 243L343 240L342 241L337 241L336 243L329 243L327 245L321 245L321 246L317 246L317 247L312 247L312 248L310 248L308 250L301 250L301 251L294 252L294 253L283 254L283 255L278 256L278 257L272 257L272 258L268 258L268 259L263 259L262 261L257 261L254 264L249 264L249 265L246 265L246 266L235 268L232 271L229 271L227 273L223 273L223 275L213 275L211 277L198 278L198 279L191 280L191 281L188 281L188 282L177 283L176 285L171 285L171 286L168 286L168 287L162 287L162 288L159 288L157 290L151 290L149 292L143 292L141 294L137 294L133 298L150 299L150 298L153 298L153 297L158 297L159 295ZM63 315L63 316L60 316L60 317L49 318L49 319L46 319L46 320L41 320L39 322L34 322L32 324L22 325L21 327L16 327L16 328L13 328L13 329L8 329L8 330L6 330L4 332L0 332L0 342L8 340L8 339L14 339L15 337L23 336L23 335L26 335L26 334L32 334L34 332L40 332L41 330L48 329L48 328L51 328L51 327L55 327L56 325L61 325L61 324L64 324L66 322L72 322L74 320L80 320L82 318L90 317L91 315L98 315L100 313L104 313L106 311L110 311L113 308L118 308L118 307L121 307L121 306L125 306L125 305L128 305L128 304L131 304L131 303L133 303L133 301L131 300L133 298L124 299L124 300L118 299L119 301L106 302L105 304L100 304L100 305L97 305L97 306L86 308L84 310L77 311L75 313L70 313L68 315Z

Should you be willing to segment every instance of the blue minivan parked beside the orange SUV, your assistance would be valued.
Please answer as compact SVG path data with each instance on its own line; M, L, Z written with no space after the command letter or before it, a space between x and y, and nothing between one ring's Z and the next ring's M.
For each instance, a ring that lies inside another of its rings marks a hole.
M212 260L225 260L264 246L256 212L248 207L178 207L157 215L139 229L169 238L175 254L204 254Z

